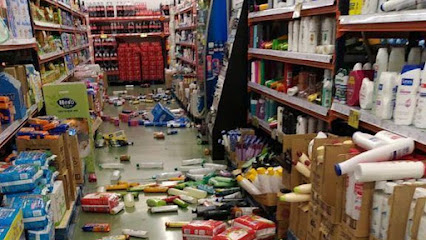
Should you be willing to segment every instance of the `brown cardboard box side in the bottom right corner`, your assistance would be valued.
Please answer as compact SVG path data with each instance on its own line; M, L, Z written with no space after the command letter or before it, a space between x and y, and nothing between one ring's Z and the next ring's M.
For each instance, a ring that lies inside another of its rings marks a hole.
M408 214L417 187L426 188L426 184L398 185L394 188L393 194L389 199L390 218L387 240L401 240L405 238Z

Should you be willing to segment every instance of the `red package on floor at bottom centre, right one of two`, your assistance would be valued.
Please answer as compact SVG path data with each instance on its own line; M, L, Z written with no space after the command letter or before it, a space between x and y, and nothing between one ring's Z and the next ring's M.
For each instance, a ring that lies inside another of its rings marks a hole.
M248 228L256 232L256 239L268 239L275 236L275 223L257 215L246 215L234 220L234 227Z

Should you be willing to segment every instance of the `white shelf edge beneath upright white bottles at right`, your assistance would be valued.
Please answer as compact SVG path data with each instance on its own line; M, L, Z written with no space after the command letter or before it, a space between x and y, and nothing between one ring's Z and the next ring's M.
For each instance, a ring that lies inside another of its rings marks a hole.
M381 120L376 117L371 111L363 110L356 107L347 106L334 102L331 106L331 110L340 113L345 116L349 116L350 110L357 110L360 112L360 121L370 124L372 126L394 132L404 137L410 137L416 142L426 145L426 129L416 128L414 126L403 126L396 125L392 120Z

